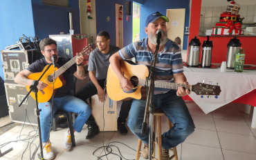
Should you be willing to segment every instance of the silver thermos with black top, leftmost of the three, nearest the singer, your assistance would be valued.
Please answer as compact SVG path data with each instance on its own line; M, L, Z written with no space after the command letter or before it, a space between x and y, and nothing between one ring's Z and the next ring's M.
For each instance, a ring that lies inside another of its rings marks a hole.
M199 39L191 39L189 43L188 51L188 67L198 67L199 66L199 54L200 54L201 43Z

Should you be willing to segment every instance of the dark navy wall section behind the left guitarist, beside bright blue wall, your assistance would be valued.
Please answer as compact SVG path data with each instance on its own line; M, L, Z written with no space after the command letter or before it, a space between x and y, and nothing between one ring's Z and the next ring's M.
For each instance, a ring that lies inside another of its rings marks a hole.
M80 34L79 10L44 4L33 4L35 35L40 39L49 37L49 34L65 34L69 32L69 12L72 12L73 30Z

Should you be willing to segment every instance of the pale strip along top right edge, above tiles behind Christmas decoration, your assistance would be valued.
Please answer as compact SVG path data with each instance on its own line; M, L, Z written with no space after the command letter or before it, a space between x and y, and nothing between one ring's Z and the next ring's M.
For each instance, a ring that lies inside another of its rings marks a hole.
M240 6L256 5L256 0L235 0ZM218 7L228 6L230 2L227 0L202 0L201 7Z

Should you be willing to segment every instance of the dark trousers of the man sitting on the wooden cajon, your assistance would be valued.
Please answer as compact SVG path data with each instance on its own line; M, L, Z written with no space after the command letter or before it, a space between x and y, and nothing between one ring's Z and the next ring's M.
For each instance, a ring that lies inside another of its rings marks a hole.
M105 81L106 79L98 80L98 83L102 88L105 88ZM91 98L93 95L97 93L98 93L97 88L95 88L92 81L89 81L80 90L78 90L78 92L75 94L75 97L82 99L83 101L86 101L86 99ZM132 99L129 101L122 101L118 121L125 121L125 119L127 119L129 110L131 108L131 103L132 103ZM89 119L86 121L86 125L93 125L93 124L95 124L95 119L91 114Z

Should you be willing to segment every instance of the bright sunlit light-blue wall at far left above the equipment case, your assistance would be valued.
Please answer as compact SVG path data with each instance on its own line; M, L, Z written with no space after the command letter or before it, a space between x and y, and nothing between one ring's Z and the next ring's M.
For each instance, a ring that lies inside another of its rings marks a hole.
M26 36L35 36L31 0L1 0L0 3L0 50L15 44L15 41ZM0 57L0 77L3 77Z

